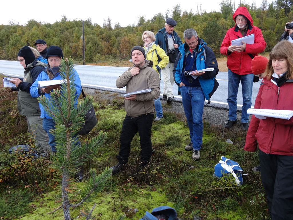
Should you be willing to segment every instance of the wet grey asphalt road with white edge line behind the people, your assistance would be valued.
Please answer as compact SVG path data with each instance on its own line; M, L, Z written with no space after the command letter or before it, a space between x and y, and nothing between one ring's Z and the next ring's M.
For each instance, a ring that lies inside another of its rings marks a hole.
M90 65L75 65L74 67L79 74L81 83L84 87L97 88L102 90L124 92L125 88L118 89L116 87L116 79L119 77L128 67L108 67L108 66L90 66ZM0 73L4 73L6 76L23 77L23 67L17 61L0 60ZM228 96L228 73L219 72L216 76L219 82L217 91L211 98L211 105L228 108L226 102ZM260 82L253 83L252 91L252 106L258 93ZM181 101L181 97L178 96L178 87L174 83L173 85L174 98L177 101ZM163 80L161 80L161 95L163 93ZM243 103L242 99L242 87L239 85L237 96L237 109L241 110Z

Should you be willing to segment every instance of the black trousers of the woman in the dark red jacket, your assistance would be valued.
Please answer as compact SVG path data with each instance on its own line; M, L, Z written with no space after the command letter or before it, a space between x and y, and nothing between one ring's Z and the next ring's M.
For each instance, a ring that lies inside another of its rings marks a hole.
M259 150L259 161L272 220L293 220L293 156Z

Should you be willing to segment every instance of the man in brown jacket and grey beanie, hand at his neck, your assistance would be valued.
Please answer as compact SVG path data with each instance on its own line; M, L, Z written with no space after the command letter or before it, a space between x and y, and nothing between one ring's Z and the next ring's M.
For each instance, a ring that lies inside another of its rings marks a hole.
M159 75L152 68L153 62L145 60L144 48L135 46L131 50L133 67L130 67L116 80L116 86L126 86L126 93L151 89L151 92L131 95L125 98L126 116L122 124L120 135L120 151L117 155L118 163L110 167L112 173L123 169L129 158L130 143L134 135L139 133L142 148L141 167L146 166L151 158L151 126L154 119L154 99L160 96Z

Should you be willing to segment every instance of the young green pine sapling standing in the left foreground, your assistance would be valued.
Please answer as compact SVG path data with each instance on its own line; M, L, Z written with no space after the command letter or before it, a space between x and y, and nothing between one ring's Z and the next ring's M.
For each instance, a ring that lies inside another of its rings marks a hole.
M71 58L62 60L60 75L62 79L66 80L66 83L61 84L60 90L51 91L50 100L45 96L39 98L45 111L56 124L52 134L55 137L57 152L52 157L52 167L57 172L57 178L60 177L57 181L60 183L59 201L61 204L50 213L63 208L65 220L71 219L69 209L77 206L83 206L89 212L86 216L86 219L89 219L96 204L92 209L88 208L88 204L92 201L93 195L103 189L112 173L112 170L106 167L97 175L96 169L91 168L90 178L84 181L82 189L79 189L74 181L74 175L79 172L78 167L93 158L107 137L107 133L100 131L96 137L85 139L83 144L78 141L77 131L84 123L84 115L91 109L93 100L87 96L78 107L76 106L78 97L74 82L75 74L73 60Z

